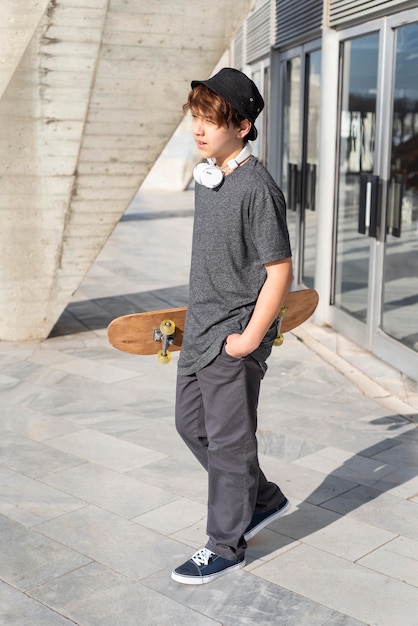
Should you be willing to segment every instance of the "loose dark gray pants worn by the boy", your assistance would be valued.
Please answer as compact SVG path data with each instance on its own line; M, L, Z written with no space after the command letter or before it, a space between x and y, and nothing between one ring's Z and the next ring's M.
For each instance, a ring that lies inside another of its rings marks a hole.
M253 513L284 499L258 463L262 377L255 359L234 359L225 350L196 374L177 377L176 427L208 472L206 547L225 559L243 556L243 533Z

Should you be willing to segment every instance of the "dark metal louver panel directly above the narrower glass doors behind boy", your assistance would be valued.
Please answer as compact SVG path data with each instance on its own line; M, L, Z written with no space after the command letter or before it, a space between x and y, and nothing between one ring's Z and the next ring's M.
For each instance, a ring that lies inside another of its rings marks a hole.
M276 48L318 37L322 0L276 0Z

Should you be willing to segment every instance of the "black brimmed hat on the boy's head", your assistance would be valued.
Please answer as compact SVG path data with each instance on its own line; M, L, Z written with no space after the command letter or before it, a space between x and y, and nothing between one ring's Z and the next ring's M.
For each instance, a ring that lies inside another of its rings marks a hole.
M251 130L247 139L257 139L254 122L264 108L264 100L251 78L232 67L224 67L208 80L192 80L192 89L198 85L206 85L249 120Z

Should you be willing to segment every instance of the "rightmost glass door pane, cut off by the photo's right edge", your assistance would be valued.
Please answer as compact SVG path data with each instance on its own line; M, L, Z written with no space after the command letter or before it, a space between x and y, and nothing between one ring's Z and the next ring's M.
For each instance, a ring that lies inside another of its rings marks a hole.
M394 48L382 330L418 353L417 22L396 29Z

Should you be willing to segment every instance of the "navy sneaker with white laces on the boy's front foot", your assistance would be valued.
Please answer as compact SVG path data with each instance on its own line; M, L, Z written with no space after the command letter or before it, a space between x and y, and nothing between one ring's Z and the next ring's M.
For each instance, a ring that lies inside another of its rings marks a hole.
M240 561L229 561L207 548L202 548L191 559L171 572L171 578L184 585L203 585L236 569L241 569L244 565L244 557Z

